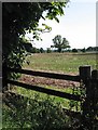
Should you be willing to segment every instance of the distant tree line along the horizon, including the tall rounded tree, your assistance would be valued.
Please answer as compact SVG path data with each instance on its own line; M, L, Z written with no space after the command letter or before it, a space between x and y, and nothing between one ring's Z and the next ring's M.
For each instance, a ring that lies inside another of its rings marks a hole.
M24 38L24 48L27 52L30 53L51 53L51 52L96 52L98 51L98 47L88 47L87 49L83 48L83 49L71 49L69 41L66 38L62 38L60 35L56 35L54 37L53 40L53 46L51 46L47 49L37 49L36 47L32 47L32 44L30 42L28 42L25 38Z

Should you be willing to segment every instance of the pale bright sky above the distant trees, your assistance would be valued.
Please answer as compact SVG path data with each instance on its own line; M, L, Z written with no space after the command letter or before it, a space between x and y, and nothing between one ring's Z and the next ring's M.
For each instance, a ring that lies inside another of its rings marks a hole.
M41 35L42 41L34 41L33 47L50 48L56 35L67 38L71 49L83 49L96 46L96 0L70 0L65 9L65 15L55 21L40 20L52 27L51 32ZM28 37L31 39L32 35Z

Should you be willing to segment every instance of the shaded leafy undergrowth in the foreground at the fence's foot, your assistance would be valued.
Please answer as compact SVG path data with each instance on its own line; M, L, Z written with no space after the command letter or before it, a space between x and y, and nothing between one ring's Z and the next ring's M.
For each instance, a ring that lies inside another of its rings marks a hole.
M5 93L2 114L2 130L85 130L81 117L68 116L48 95L41 100L39 94L28 99Z

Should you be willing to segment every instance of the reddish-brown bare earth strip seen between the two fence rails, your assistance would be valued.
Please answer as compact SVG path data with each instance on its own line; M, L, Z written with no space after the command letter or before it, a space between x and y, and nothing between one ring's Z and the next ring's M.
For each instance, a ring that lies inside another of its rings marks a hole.
M67 80L42 78L42 77L32 77L32 76L22 76L20 81L29 84L40 84L40 86L55 86L57 88L68 88L68 87L78 87L80 83Z

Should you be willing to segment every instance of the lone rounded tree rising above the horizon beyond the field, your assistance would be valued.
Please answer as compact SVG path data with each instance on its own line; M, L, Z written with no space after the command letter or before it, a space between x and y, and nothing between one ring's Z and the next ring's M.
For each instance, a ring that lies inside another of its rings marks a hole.
M70 48L68 40L66 38L61 38L60 35L55 36L53 42L54 47L58 49L58 52L61 52L62 49Z

